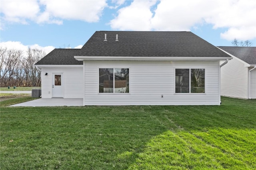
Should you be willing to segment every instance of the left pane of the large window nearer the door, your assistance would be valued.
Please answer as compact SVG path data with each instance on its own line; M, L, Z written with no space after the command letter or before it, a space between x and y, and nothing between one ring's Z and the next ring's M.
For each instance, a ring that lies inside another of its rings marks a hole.
M99 92L100 93L113 93L114 92L114 69L113 68L100 68L99 75Z

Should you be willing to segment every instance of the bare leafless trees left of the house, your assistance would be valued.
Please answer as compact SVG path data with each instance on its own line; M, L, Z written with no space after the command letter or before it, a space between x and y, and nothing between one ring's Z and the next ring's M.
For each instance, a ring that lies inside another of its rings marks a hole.
M0 87L41 86L41 72L34 64L45 55L40 49L24 52L0 47Z

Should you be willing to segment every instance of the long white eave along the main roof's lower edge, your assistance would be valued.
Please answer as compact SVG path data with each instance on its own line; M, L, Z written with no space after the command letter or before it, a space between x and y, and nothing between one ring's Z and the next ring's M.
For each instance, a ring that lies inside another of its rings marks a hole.
M116 57L116 56L74 56L78 61L224 61L232 57Z

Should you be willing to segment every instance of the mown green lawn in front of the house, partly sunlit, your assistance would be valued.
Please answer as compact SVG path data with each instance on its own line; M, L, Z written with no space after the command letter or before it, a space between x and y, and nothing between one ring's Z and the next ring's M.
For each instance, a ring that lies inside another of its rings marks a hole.
M0 116L1 170L256 169L256 100L1 107Z

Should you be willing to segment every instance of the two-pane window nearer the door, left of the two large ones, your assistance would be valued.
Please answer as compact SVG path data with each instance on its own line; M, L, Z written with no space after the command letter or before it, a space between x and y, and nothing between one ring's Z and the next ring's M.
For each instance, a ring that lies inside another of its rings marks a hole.
M100 93L129 93L129 68L100 68Z

